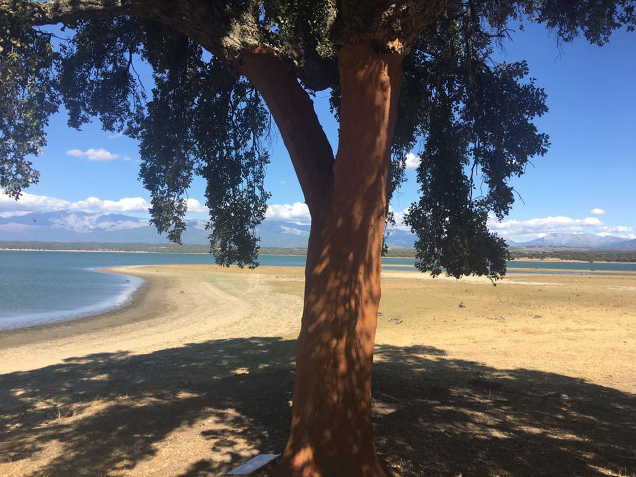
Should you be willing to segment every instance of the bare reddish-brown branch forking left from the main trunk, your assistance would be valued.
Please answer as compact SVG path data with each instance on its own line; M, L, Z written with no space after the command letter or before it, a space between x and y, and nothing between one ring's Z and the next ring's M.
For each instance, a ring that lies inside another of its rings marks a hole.
M331 188L334 163L314 102L279 55L268 48L260 46L245 52L239 71L265 99L313 213Z

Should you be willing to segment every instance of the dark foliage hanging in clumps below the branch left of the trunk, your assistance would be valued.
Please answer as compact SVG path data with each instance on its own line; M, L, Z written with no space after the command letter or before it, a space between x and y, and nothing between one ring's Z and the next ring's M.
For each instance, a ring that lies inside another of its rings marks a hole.
M207 179L211 251L223 265L258 265L254 228L265 217L269 118L258 93L183 34L120 17L73 25L64 47L61 90L69 123L99 116L106 130L139 137L140 178L151 192L151 221L181 241L184 196L194 174ZM151 99L134 62L153 69ZM89 85L85 87L85 85Z

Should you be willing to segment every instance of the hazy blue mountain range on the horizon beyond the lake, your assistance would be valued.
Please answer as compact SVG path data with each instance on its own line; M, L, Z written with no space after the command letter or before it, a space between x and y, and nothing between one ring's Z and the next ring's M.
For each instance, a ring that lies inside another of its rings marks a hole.
M209 232L205 220L188 221L183 233L184 244L207 244ZM308 224L266 219L256 229L263 247L307 247ZM141 242L163 244L165 235L159 235L148 219L109 214L105 212L33 212L23 216L0 218L0 240L41 242ZM387 244L391 247L412 248L415 235L404 230L393 230ZM593 233L550 233L529 242L508 240L511 247L581 247L636 249L636 239L626 240L611 235Z

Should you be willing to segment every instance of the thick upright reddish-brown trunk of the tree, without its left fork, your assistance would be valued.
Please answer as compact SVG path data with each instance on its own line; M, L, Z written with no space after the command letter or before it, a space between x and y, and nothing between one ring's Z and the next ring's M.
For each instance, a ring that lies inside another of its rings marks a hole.
M384 476L371 368L401 56L344 48L333 183L312 211L289 441L280 476Z

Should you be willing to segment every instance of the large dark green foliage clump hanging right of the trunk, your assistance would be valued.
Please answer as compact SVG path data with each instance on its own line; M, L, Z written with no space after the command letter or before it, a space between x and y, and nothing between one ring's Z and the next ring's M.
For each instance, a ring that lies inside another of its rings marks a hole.
M417 267L496 280L506 272L508 252L487 220L490 212L499 219L508 214L514 201L508 179L547 151L547 135L530 122L547 111L546 95L525 79L524 62L492 64L494 33L461 8L424 31L404 62L409 93L394 155L403 157L416 139L424 143L422 195L406 216L418 237Z

